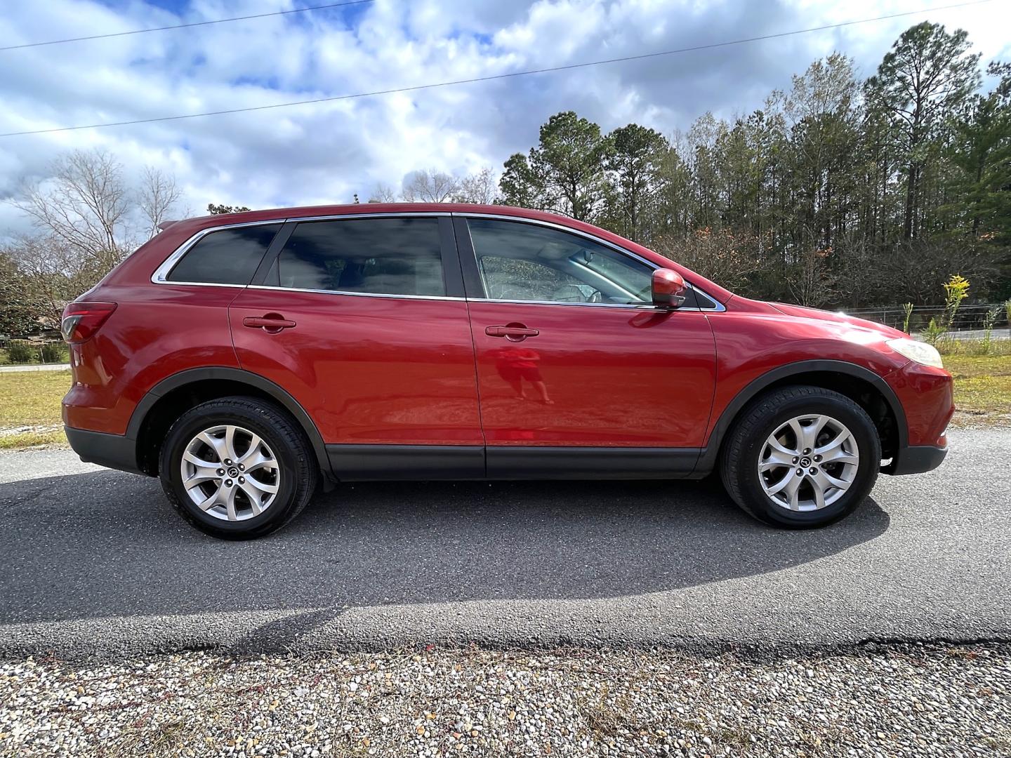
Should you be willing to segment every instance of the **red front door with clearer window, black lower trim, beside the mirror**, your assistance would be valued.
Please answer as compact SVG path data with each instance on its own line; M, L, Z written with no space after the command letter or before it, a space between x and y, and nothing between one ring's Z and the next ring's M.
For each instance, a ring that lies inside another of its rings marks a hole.
M490 218L455 225L488 475L690 472L715 386L706 314L652 307L652 267L580 235Z

